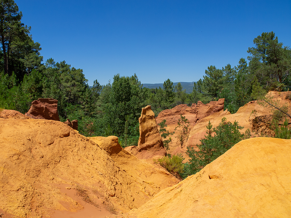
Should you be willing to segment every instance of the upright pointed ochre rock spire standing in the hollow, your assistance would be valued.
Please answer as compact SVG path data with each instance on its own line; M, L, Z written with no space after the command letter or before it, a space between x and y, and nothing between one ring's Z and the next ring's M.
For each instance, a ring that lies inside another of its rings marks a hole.
M138 146L129 146L125 150L139 159L150 159L155 156L166 156L166 149L157 128L155 113L150 106L141 110L139 117Z

